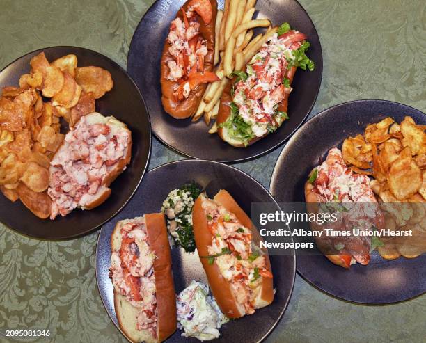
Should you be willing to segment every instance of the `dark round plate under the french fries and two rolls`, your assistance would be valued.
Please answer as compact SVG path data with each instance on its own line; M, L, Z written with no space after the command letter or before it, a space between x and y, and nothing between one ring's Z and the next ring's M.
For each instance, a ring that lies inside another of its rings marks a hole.
M136 28L127 57L127 71L146 99L155 136L181 154L196 159L223 162L252 159L283 143L309 114L321 84L321 45L315 26L306 11L295 0L259 0L256 5L258 18L267 17L274 25L289 22L294 29L308 36L310 42L308 56L315 62L315 70L313 72L297 71L288 104L290 120L286 121L274 134L244 148L232 147L223 142L218 135L209 134L202 119L195 123L191 122L191 119L178 120L172 118L163 109L159 82L161 51L163 51L170 23L183 3L183 0L156 1ZM223 8L223 0L218 3L219 8Z

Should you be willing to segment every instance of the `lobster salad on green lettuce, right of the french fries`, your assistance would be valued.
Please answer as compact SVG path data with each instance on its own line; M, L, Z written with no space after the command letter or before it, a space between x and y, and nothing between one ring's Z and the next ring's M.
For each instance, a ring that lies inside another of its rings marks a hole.
M305 54L308 47L306 35L290 30L284 23L246 64L245 70L232 73L236 76L231 90L232 115L223 126L233 138L246 144L276 131L288 119L287 113L280 111L280 104L292 91L292 67L314 69L313 61Z

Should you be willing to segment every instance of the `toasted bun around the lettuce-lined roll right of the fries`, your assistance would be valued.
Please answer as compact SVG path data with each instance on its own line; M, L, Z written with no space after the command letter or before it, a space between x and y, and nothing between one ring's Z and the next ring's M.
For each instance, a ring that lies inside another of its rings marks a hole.
M290 80L290 86L293 82L294 74L296 73L297 67L291 67L290 70L287 70L285 77ZM229 133L228 129L226 127L223 127L223 124L228 120L228 118L231 115L231 109L230 109L230 103L232 102L232 96L231 96L231 89L232 84L235 82L235 79L228 83L226 88L223 90L220 104L219 104L219 112L217 114L217 133L219 136L223 139L223 141L226 141L230 145L233 145L235 147L245 147L244 143L241 141L233 138ZM287 113L288 108L288 97L290 96L290 93L284 93L284 99L283 101L278 105L278 111ZM275 120L274 120L275 121ZM276 123L278 124L278 123ZM266 137L269 133L264 134L261 137L255 137L248 141L248 145L251 145L260 139Z

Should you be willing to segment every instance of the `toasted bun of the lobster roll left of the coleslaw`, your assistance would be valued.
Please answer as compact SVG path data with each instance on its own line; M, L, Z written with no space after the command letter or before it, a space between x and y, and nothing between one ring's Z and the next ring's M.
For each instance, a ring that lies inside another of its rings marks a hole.
M163 342L176 328L176 299L171 270L171 253L168 244L166 221L163 214L145 214L143 217L119 221L111 235L111 249L120 250L122 236L120 229L135 220L145 220L150 250L155 254L154 276L157 298L157 338L148 330L136 328L139 310L127 298L114 289L114 306L120 329L132 342Z

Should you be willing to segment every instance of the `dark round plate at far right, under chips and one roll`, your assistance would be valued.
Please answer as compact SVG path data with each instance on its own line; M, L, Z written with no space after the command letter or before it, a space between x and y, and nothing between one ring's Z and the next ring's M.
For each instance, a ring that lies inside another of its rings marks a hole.
M271 179L272 195L278 202L304 202L308 174L324 161L331 147L341 146L348 136L362 134L371 122L387 116L401 122L406 115L426 124L424 113L384 100L346 102L319 113L292 136L278 157ZM304 255L297 257L297 271L319 289L357 303L395 303L426 292L426 255L386 261L375 251L370 264L356 264L349 270L322 255Z

